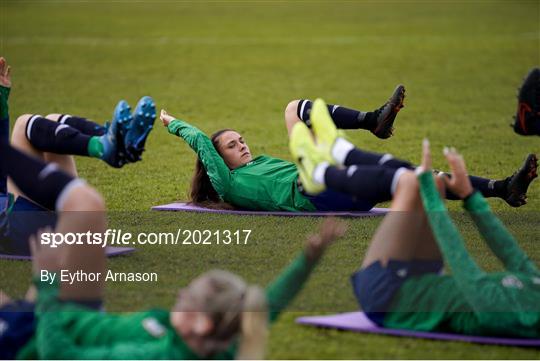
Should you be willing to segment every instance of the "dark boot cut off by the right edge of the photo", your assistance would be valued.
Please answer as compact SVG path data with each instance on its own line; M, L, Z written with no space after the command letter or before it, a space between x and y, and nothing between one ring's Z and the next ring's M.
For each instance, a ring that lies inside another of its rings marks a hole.
M514 132L520 135L540 135L540 68L529 72L518 94L518 110L514 116Z

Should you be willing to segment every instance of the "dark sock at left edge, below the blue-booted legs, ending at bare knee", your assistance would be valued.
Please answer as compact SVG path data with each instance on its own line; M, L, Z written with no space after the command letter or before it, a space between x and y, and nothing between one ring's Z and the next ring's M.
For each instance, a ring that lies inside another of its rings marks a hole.
M76 181L54 163L46 164L9 144L2 144L0 149L0 174L11 177L21 192L47 209L55 209L62 191Z

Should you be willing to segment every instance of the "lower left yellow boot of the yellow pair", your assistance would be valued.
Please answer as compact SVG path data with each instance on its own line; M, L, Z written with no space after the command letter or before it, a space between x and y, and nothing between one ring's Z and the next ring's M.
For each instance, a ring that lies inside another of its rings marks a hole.
M303 190L308 194L318 194L325 190L324 183L314 179L317 166L329 164L328 155L317 148L308 127L298 122L291 130L289 149L298 169Z

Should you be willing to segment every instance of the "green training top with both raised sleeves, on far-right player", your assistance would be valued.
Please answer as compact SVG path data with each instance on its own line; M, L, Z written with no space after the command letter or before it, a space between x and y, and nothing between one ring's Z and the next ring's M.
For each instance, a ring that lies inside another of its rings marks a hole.
M540 272L480 192L465 200L476 227L507 272L486 273L470 257L431 173L419 176L424 209L452 275L407 279L383 324L470 335L540 337Z

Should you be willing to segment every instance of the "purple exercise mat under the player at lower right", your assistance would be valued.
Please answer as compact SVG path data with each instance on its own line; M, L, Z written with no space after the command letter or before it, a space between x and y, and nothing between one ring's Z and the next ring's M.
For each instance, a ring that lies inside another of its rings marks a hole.
M336 315L329 316L299 317L296 319L296 323L315 327L335 328L338 330L377 333L403 337L428 338L443 341L464 341L508 346L540 346L540 339L469 336L455 333L421 332L383 328L371 322L363 312L338 313Z

